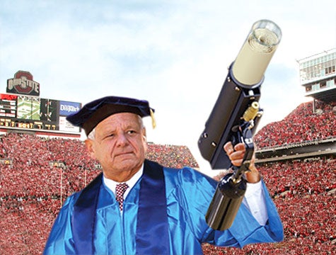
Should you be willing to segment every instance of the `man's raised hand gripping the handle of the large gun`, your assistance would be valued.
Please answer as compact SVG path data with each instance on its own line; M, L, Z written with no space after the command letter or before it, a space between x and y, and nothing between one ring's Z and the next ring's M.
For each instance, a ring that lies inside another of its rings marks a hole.
M228 158L231 160L233 166L241 166L245 154L245 145L243 142L238 143L238 145L235 145L235 147L233 147L231 142L226 142L224 145L224 150L228 155ZM249 183L257 183L260 181L261 177L259 171L257 171L255 168L255 154L253 154L248 169L250 169L250 171L246 172L246 181Z

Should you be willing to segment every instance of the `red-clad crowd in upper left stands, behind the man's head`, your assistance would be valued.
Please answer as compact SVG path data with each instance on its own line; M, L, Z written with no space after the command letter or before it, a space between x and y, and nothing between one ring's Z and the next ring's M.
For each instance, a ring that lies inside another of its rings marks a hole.
M148 147L148 159L168 167L198 168L186 146L149 143ZM67 197L100 173L98 162L88 156L80 140L11 133L1 137L0 152L0 159L12 159L12 164L1 165L0 192L10 196Z

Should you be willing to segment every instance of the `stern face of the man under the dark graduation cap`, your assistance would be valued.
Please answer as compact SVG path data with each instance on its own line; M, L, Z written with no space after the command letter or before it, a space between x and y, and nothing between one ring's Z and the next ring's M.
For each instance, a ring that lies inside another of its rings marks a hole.
M95 139L86 140L86 147L107 178L127 181L144 163L146 130L139 115L116 113L95 127Z

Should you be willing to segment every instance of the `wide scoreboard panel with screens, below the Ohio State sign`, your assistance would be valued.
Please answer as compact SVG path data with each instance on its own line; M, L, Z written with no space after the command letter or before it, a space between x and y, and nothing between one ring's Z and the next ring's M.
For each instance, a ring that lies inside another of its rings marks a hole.
M37 96L0 94L0 128L79 134L66 116L79 111L81 103Z

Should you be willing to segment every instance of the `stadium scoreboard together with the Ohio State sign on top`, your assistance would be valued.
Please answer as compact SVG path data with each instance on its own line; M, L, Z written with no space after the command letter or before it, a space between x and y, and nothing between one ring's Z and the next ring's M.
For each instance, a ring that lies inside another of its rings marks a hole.
M80 135L81 128L66 120L81 103L40 98L40 84L27 71L7 79L6 94L0 94L0 128Z

